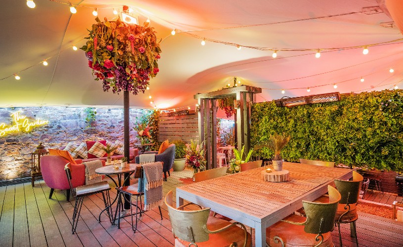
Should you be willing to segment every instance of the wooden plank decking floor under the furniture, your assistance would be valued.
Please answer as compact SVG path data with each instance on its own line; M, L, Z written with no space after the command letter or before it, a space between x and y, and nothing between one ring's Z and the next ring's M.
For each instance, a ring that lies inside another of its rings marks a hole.
M171 172L164 182L164 193L187 184L191 171ZM112 184L111 184L112 186ZM113 187L113 186L112 186ZM112 226L106 214L101 222L97 217L102 209L101 196L90 196L84 200L77 234L71 234L71 217L74 199L66 202L62 191L55 191L48 199L50 189L43 181L0 187L0 246L173 246L174 237L165 205L163 220L158 208L145 212L138 222L138 232L133 233L130 218L121 221L121 229ZM111 194L116 195L115 190ZM369 197L368 197L369 198ZM390 196L389 196L390 198ZM388 198L388 200L389 200ZM175 199L175 197L174 197ZM386 200L386 199L385 199ZM350 228L342 225L344 246L354 246ZM360 246L402 246L403 223L370 214L359 213L357 221ZM339 246L338 231L332 232L336 246Z

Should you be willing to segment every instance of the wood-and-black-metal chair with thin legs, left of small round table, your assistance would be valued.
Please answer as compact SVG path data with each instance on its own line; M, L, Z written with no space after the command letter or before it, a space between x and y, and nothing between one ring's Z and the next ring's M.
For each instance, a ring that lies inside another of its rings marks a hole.
M67 165L64 166L64 170L66 171L66 175L67 175L67 180L69 181L69 185L70 185L70 191L71 191L73 197L76 198L76 204L74 205L74 211L73 211L73 224L72 224L71 233L74 234L76 232L77 223L78 223L78 219L80 217L81 207L83 206L84 197L94 195L97 193L102 193L103 203L105 205L105 208L107 208L106 212L108 214L109 221L112 223L112 209L110 208L111 200L109 197L109 191L111 188L109 187L108 181L102 181L102 182L97 182L97 183L93 183L93 184L82 185L82 186L78 186L78 187L74 188L73 184L72 184L74 177L72 176L70 168L71 168L70 163L68 163ZM105 194L106 194L106 197L105 197ZM99 215L99 219L100 219L100 215Z

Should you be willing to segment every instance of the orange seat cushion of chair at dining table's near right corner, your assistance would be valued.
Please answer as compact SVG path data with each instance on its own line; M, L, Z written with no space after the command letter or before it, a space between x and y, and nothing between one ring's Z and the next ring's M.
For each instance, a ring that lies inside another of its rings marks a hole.
M304 222L305 217L291 214L284 218L286 220L294 222ZM324 233L323 242L320 247L332 247L332 237L330 233ZM275 244L273 238L274 236L280 237L284 241L284 246L315 246L319 242L315 241L316 234L306 233L304 231L304 226L293 225L287 222L279 221L274 225L266 229L266 242L269 246L278 246Z

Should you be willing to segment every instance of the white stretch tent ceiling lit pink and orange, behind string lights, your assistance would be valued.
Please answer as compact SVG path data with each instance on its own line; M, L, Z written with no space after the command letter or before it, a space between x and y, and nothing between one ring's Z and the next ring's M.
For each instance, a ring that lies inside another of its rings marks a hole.
M34 1L35 8L25 0L1 4L0 107L121 107L123 94L103 92L84 51L71 47L87 41L94 7L101 20L113 20L113 8L123 5L134 10L140 24L149 18L162 39L160 73L150 80L150 90L131 95L131 107L194 109L195 93L232 86L234 77L263 88L258 102L403 88L399 0L71 0L76 14L65 0ZM379 7L371 14L362 12L374 6Z

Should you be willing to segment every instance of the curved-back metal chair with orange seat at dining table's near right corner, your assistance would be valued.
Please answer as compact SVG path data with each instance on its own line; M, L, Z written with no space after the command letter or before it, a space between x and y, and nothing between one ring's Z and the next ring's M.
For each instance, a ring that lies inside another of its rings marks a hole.
M306 217L291 214L266 229L269 246L333 246L330 231L334 228L340 193L327 186L329 197L326 203L302 201Z

